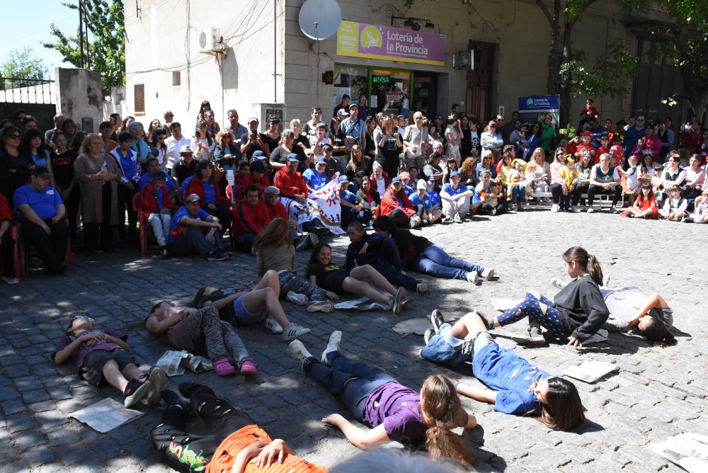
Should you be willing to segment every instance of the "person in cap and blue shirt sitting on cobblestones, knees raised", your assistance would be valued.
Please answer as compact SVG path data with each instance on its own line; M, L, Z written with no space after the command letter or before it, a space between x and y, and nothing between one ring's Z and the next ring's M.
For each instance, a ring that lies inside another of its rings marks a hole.
M222 249L218 230L222 229L219 219L207 214L201 208L199 195L190 194L185 198L184 207L180 207L172 217L167 244L174 256L187 256L193 251L205 255L209 261L223 261L231 253ZM208 231L202 232L202 230Z

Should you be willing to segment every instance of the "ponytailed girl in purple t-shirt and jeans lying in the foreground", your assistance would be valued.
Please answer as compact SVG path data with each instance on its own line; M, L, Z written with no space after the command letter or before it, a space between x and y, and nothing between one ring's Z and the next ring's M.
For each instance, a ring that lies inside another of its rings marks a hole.
M450 380L430 376L418 394L381 370L351 363L339 351L341 338L341 331L333 332L319 360L298 340L290 343L290 353L306 375L341 396L354 418L372 430L362 431L340 414L327 416L323 422L340 428L358 448L392 440L417 443L425 438L433 458L452 457L471 467L476 455L450 430L474 428L476 418L462 409Z

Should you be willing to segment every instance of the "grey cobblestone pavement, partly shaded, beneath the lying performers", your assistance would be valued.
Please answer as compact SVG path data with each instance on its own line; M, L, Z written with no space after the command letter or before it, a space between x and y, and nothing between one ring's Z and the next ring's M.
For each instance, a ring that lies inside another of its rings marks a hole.
M413 295L404 312L308 314L284 302L286 313L312 333L302 341L318 355L335 329L343 331L343 353L392 373L420 389L430 374L442 373L476 384L467 368L449 370L419 356L423 339L401 337L391 327L406 317L440 307L462 316L471 309L493 312L492 297L519 298L527 288L556 292L553 276L564 276L561 253L581 244L598 256L610 287L636 285L660 292L675 311L678 345L654 348L638 338L612 334L610 341L578 351L559 343L521 348L510 341L523 323L498 329L495 338L552 373L584 360L619 365L619 373L595 384L576 382L588 421L577 433L549 431L532 418L498 414L491 406L463 397L479 425L464 435L476 446L481 472L651 472L680 471L649 450L669 435L708 435L708 347L704 325L708 290L700 244L708 227L699 224L621 219L615 215L552 214L534 210L518 215L474 218L464 224L424 229L421 234L453 256L496 268L499 279L473 286L457 280L422 278L430 292ZM333 240L343 260L346 236ZM299 268L307 256L298 255ZM57 367L50 355L74 314L89 312L98 324L130 336L135 359L146 368L168 346L142 330L142 319L157 300L186 300L207 283L244 287L256 279L255 258L224 262L139 258L137 251L88 258L76 254L76 270L64 278L45 276L35 263L20 285L0 286L0 462L13 472L161 472L149 431L161 409L141 406L145 415L105 434L69 419L69 413L105 397L121 400L111 387L81 382L71 363ZM700 295L700 297L696 297ZM336 429L320 422L343 404L299 372L286 343L264 327L239 330L259 367L256 380L218 377L214 372L168 380L174 387L199 380L240 406L273 438L284 438L298 454L332 466L356 449Z

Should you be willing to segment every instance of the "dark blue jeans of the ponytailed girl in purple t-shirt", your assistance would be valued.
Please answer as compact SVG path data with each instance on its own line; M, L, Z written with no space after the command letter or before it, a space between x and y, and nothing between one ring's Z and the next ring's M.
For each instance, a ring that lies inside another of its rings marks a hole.
M331 367L310 357L304 365L304 370L322 387L329 389L331 394L341 396L343 403L357 421L362 419L369 394L387 382L396 382L382 370L368 367L364 363L351 363L338 351L327 353L327 359Z

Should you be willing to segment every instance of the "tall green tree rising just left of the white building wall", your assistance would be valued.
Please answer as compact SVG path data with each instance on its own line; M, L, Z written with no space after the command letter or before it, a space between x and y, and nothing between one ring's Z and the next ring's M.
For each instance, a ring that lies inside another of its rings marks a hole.
M101 72L103 96L110 95L111 87L125 84L125 28L123 27L122 0L82 0L89 12L88 28L91 39L84 38L84 64L89 60L89 67ZM78 10L79 6L62 3L62 5ZM64 55L64 62L81 67L81 48L78 28L76 36L62 33L52 23L52 35L57 41L42 46L57 50Z

